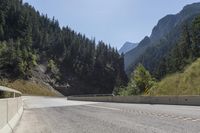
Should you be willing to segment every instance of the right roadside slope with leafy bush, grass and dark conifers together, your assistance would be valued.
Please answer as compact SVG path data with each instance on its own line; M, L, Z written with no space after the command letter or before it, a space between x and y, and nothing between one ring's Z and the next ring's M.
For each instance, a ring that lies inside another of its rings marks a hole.
M116 88L114 94L127 95L200 95L200 17L182 26L179 41L150 72L139 64L128 86ZM196 61L195 61L196 60Z

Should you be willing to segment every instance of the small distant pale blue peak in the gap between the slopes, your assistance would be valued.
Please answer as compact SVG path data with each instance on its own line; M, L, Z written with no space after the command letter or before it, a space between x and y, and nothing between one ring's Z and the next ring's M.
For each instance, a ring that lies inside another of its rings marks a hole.
M134 49L135 47L137 47L138 43L131 43L131 42L126 42L124 43L124 45L119 49L119 53L127 53L128 51Z

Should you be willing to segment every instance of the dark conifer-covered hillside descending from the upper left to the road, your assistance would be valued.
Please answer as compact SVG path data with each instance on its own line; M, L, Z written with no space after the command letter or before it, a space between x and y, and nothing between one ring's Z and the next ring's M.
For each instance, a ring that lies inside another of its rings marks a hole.
M61 28L22 0L0 2L2 80L42 82L65 95L111 93L127 82L123 62L103 41Z

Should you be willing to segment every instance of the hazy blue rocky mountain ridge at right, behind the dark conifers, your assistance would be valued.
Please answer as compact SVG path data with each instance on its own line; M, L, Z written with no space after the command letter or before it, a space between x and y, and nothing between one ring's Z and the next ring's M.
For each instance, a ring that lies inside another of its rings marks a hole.
M183 25L192 23L198 15L200 3L194 3L186 5L175 15L167 15L160 19L150 37L145 37L136 48L124 55L126 73L130 74L138 63L155 73L161 59L179 40Z

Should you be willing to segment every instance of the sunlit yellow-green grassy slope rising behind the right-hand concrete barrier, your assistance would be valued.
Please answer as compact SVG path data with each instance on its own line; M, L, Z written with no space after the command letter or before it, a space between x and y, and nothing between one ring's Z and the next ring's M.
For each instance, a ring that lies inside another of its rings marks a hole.
M200 95L200 58L183 73L165 77L148 91L148 95Z

